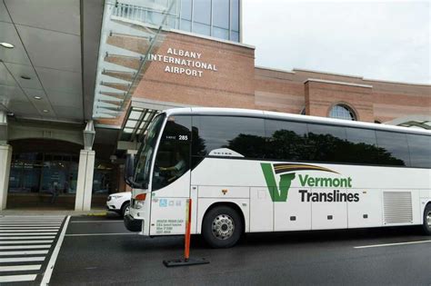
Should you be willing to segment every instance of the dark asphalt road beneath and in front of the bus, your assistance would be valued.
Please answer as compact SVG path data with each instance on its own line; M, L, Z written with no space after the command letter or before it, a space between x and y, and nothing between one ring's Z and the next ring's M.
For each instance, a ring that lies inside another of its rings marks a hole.
M380 245L398 242L415 243ZM431 285L430 242L417 228L248 234L226 250L192 237L191 256L211 263L168 269L162 261L181 257L182 237L130 234L114 216L73 217L50 285Z

